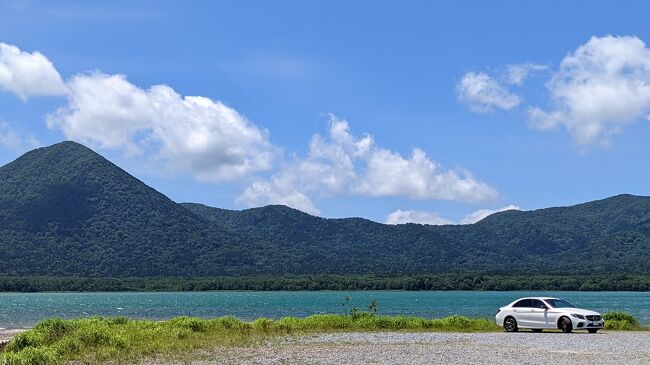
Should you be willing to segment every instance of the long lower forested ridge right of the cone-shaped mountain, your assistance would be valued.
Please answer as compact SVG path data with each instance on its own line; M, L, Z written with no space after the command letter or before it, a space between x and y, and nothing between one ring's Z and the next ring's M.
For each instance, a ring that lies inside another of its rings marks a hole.
M471 225L447 226L323 219L284 206L232 211L183 205L231 231L256 234L298 252L309 247L326 263L345 267L339 270L345 273L650 269L650 197L619 195L571 207L512 210Z

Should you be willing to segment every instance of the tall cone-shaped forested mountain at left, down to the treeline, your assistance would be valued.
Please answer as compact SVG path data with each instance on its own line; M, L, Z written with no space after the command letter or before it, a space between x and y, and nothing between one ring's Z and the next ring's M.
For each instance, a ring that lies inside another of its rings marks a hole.
M92 150L63 142L0 168L0 273L150 276L253 265L206 224Z

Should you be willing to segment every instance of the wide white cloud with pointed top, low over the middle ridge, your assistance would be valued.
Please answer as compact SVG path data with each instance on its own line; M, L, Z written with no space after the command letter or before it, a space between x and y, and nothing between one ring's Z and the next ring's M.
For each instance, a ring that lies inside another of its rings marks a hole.
M286 204L318 214L314 197L486 201L498 196L494 188L468 171L444 169L417 148L404 157L378 147L372 136L352 135L348 123L334 116L328 137L312 137L308 156L287 163L267 180L254 182L237 201L246 206Z

